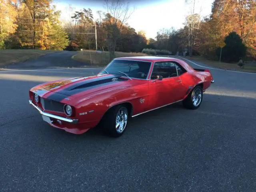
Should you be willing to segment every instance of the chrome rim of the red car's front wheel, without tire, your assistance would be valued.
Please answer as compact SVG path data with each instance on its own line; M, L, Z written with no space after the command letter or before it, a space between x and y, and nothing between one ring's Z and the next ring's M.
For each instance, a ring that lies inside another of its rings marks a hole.
M116 115L116 131L122 133L126 127L128 120L128 111L125 107L122 107L118 110Z

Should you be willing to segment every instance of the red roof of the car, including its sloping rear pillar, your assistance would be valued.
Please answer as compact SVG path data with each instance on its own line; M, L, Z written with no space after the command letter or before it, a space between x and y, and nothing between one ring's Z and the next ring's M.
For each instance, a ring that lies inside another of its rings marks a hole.
M161 61L176 61L187 71L194 71L194 69L186 62L181 59L172 57L157 57L157 56L134 56L134 57L119 57L114 60L136 60L136 61L146 61L146 62L161 62Z

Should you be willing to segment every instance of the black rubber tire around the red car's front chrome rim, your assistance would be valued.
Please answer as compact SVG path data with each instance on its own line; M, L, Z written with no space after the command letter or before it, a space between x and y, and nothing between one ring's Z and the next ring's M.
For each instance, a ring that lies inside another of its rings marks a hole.
M120 110L124 110L127 112L127 121L124 125L124 129L120 131L120 125L118 126L118 129L116 129L116 116ZM101 127L103 128L104 132L111 136L111 137L120 137L122 134L124 134L127 124L129 120L129 111L126 105L117 105L110 108L106 114L104 115L101 123Z

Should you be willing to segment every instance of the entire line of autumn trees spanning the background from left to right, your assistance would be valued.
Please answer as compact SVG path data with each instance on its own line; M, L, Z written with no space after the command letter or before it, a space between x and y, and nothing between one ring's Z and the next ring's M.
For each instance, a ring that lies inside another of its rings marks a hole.
M97 48L109 51L110 59L116 51L141 52L148 48L219 59L219 43L236 32L247 47L246 56L256 58L255 0L214 0L210 15L205 17L201 9L196 10L200 8L198 0L185 2L189 11L182 28L161 29L155 39L147 39L145 32L127 24L133 10L123 0L105 0L106 11L98 11L97 20L90 8L74 10L70 6L66 22L60 22L60 11L52 0L0 0L0 48Z

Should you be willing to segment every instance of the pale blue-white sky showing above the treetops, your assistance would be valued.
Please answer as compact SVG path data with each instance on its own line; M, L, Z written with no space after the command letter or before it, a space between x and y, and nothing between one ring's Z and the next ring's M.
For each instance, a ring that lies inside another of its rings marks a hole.
M103 2L104 0L54 0L56 8L62 10L63 21L68 19L69 13L66 8L69 5L77 11L91 8L94 18L98 18L96 11L104 11ZM189 11L185 0L130 0L129 2L131 8L135 7L135 11L128 23L137 32L144 30L148 38L155 38L161 28L181 28ZM212 2L213 0L197 0L196 12L199 12L202 6L202 16L209 15Z

